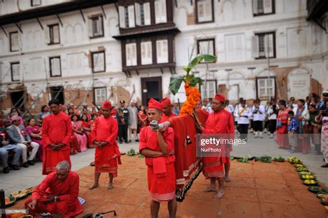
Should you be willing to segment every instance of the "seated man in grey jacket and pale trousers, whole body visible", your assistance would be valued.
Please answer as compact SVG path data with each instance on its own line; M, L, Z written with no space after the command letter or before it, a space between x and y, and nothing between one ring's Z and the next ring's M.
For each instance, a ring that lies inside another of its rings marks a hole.
M28 167L28 165L35 165L34 158L37 155L37 150L39 149L39 144L33 142L30 139L26 129L24 126L19 125L19 116L12 116L12 125L7 127L7 133L12 140L12 143L18 145L23 149L21 152L21 158L23 158L23 167ZM27 150L29 147L32 147L32 152L30 152L30 156L27 158Z

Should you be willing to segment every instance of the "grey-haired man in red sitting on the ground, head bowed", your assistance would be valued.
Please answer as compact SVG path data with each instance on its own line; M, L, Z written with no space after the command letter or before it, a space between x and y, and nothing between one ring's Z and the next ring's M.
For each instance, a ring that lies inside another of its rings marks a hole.
M48 174L37 186L32 197L25 202L30 215L50 212L51 215L73 217L82 212L83 208L78 201L80 178L69 168L67 161L58 163L56 172Z

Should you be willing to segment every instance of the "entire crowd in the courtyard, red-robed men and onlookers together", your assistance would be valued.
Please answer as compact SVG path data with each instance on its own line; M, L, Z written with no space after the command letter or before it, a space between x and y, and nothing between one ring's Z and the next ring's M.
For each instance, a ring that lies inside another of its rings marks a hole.
M280 148L290 149L291 152L305 154L310 151L312 143L317 154L325 157L322 167L328 167L328 91L322 92L320 97L312 94L306 100L272 100L266 105L261 105L260 100L254 100L250 105L249 102L246 104L246 100L239 99L235 107L224 96L217 94L209 102L198 102L195 111L198 114L195 122L198 133L234 134L237 125L239 137L247 140L249 130L255 138L263 138L268 131L270 138L275 135ZM88 105L84 104L81 111L75 109L73 104L60 105L54 99L44 105L35 118L28 119L26 125L19 116L19 109L11 109L8 117L1 111L0 152L3 172L8 173L9 167L19 170L20 165L29 167L35 165L35 161L42 161L42 174L47 177L38 186L34 199L26 202L26 208L32 212L64 211L76 215L82 208L77 206L78 175L69 170L70 155L95 147L95 180L89 189L98 188L101 173L109 174L108 189L112 189L113 178L118 176L118 164L121 164L118 143L130 143L131 135L134 134L134 140L140 140L139 152L145 156L147 165L152 215L156 217L158 214L160 201L167 201L170 216L174 217L174 130L166 124L172 122L172 117L178 113L178 105L172 105L169 98L163 98L161 102L151 99L148 107L137 107L134 101L125 107L124 100L120 101L117 109L109 101L105 101L100 109L91 107L89 110ZM165 125L162 129L154 129L152 122ZM224 183L230 181L228 172L232 147L226 146L224 157L203 157L201 160L203 174L210 179L210 186L204 191L216 192L213 196L216 199L224 196ZM8 151L13 153L10 165L7 163ZM69 174L72 174L72 178ZM218 190L216 181L219 182ZM53 183L59 186L55 187ZM37 192L42 193L46 188L59 188L56 191L58 196L38 199L41 196ZM73 196L73 199L66 198L68 195ZM55 207L48 208L56 202ZM68 203L75 206L65 207Z

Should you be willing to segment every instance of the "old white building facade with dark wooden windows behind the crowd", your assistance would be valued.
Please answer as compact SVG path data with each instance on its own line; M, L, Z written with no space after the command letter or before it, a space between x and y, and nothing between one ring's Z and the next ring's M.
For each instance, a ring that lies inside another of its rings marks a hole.
M75 105L165 96L183 102L183 88L170 94L170 77L182 75L197 53L217 55L193 71L206 80L203 98L320 93L328 89L327 18L309 3L0 1L1 109L38 111L50 98Z

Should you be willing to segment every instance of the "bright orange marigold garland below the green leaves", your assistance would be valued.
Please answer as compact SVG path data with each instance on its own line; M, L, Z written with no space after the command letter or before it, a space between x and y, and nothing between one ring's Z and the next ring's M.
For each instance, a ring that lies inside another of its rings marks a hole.
M189 84L190 82L185 82L185 96L187 96L187 100L183 103L179 116L194 113L194 107L201 100L201 93L199 93L197 87L190 87Z

